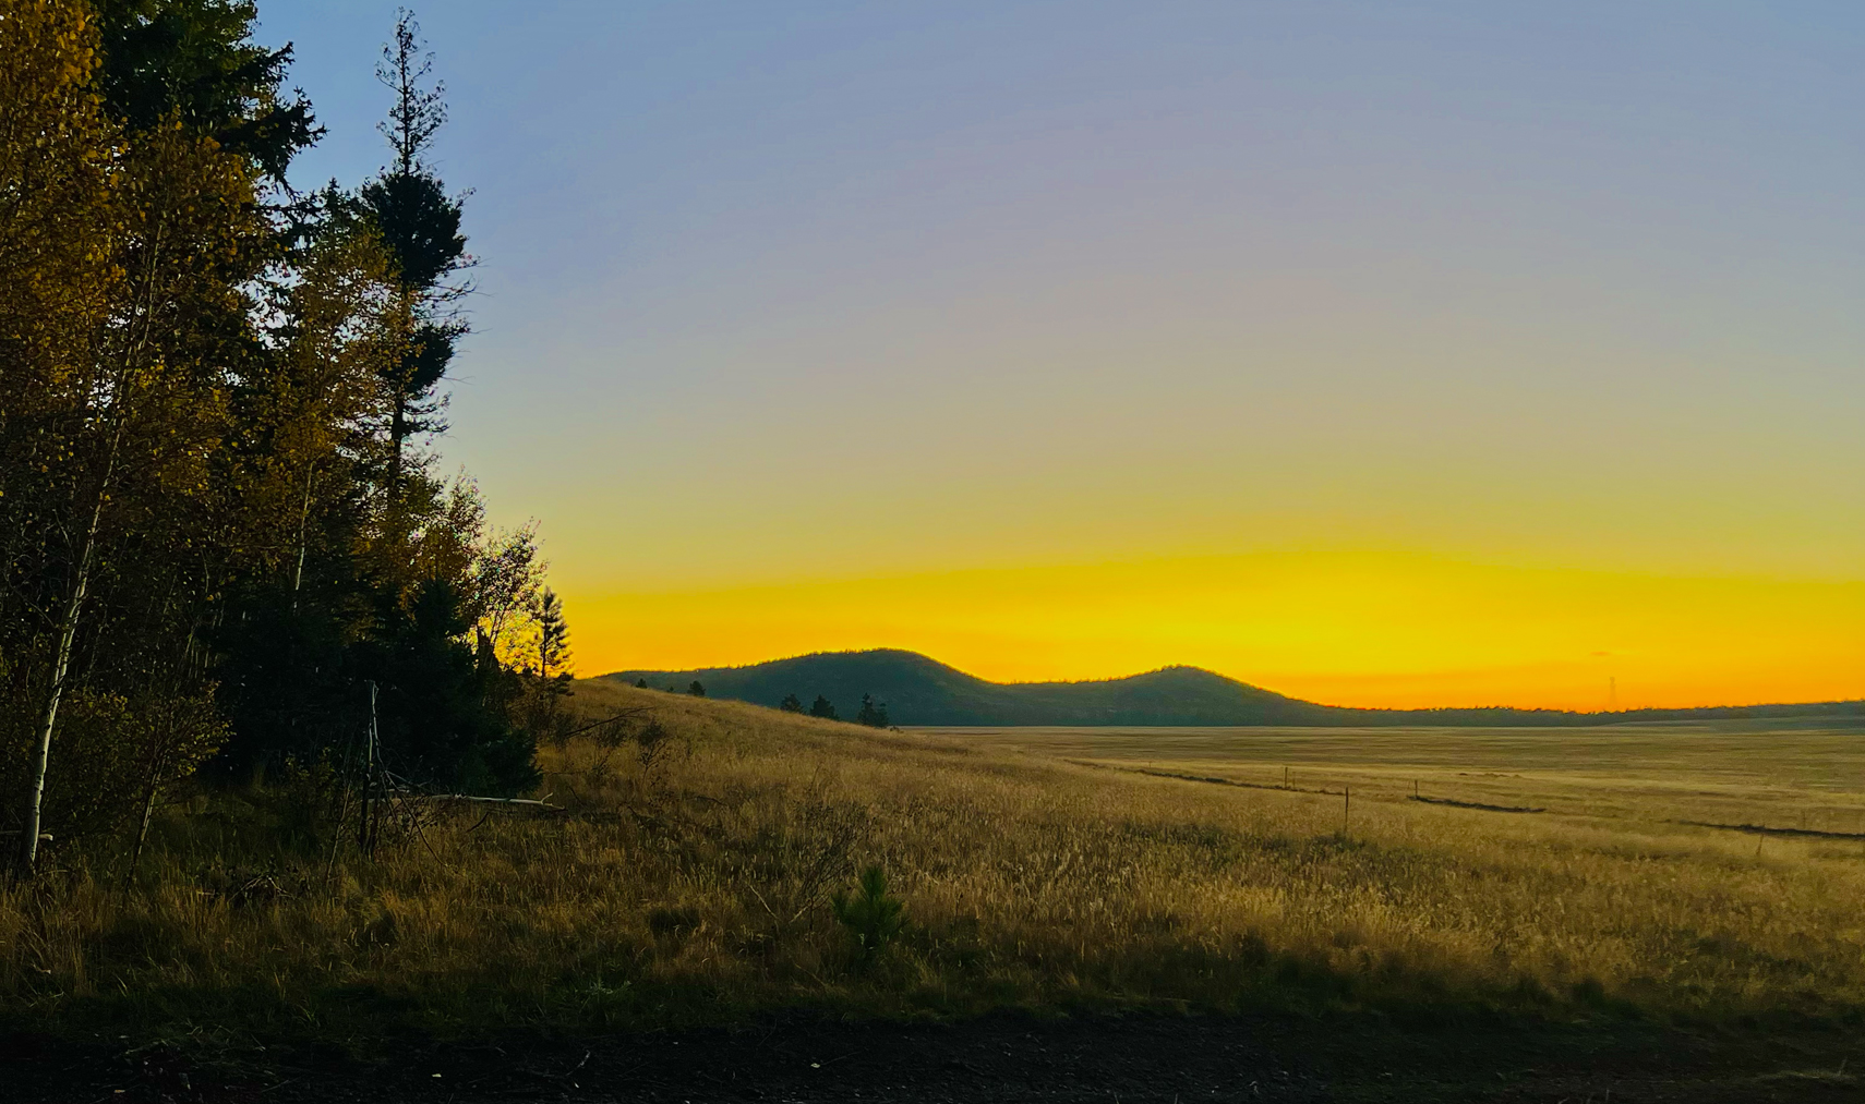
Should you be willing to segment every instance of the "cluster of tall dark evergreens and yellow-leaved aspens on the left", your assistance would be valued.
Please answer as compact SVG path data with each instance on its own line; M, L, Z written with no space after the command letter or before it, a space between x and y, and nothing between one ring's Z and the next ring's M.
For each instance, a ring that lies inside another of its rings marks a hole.
M569 632L533 528L444 479L468 334L442 88L401 15L384 168L233 0L0 0L0 843L134 852L198 768L511 794ZM9 847L11 849L11 847Z

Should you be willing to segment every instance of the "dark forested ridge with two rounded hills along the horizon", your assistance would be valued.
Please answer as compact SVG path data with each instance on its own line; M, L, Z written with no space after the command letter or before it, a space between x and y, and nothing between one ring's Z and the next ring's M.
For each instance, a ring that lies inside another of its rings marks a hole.
M1554 709L1347 709L1287 697L1203 668L1160 668L1093 683L988 683L931 656L901 649L826 651L744 668L615 671L623 683L684 690L698 681L711 697L776 707L794 694L804 707L828 697L852 718L862 696L884 701L899 725L1589 725L1662 720L1777 718L1865 722L1865 701L1563 712Z

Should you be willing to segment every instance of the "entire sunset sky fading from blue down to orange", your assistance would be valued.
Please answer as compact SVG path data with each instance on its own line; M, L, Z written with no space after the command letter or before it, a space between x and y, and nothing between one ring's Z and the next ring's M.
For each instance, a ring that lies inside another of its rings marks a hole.
M420 9L582 673L1865 696L1856 4ZM261 0L384 160L394 4Z

